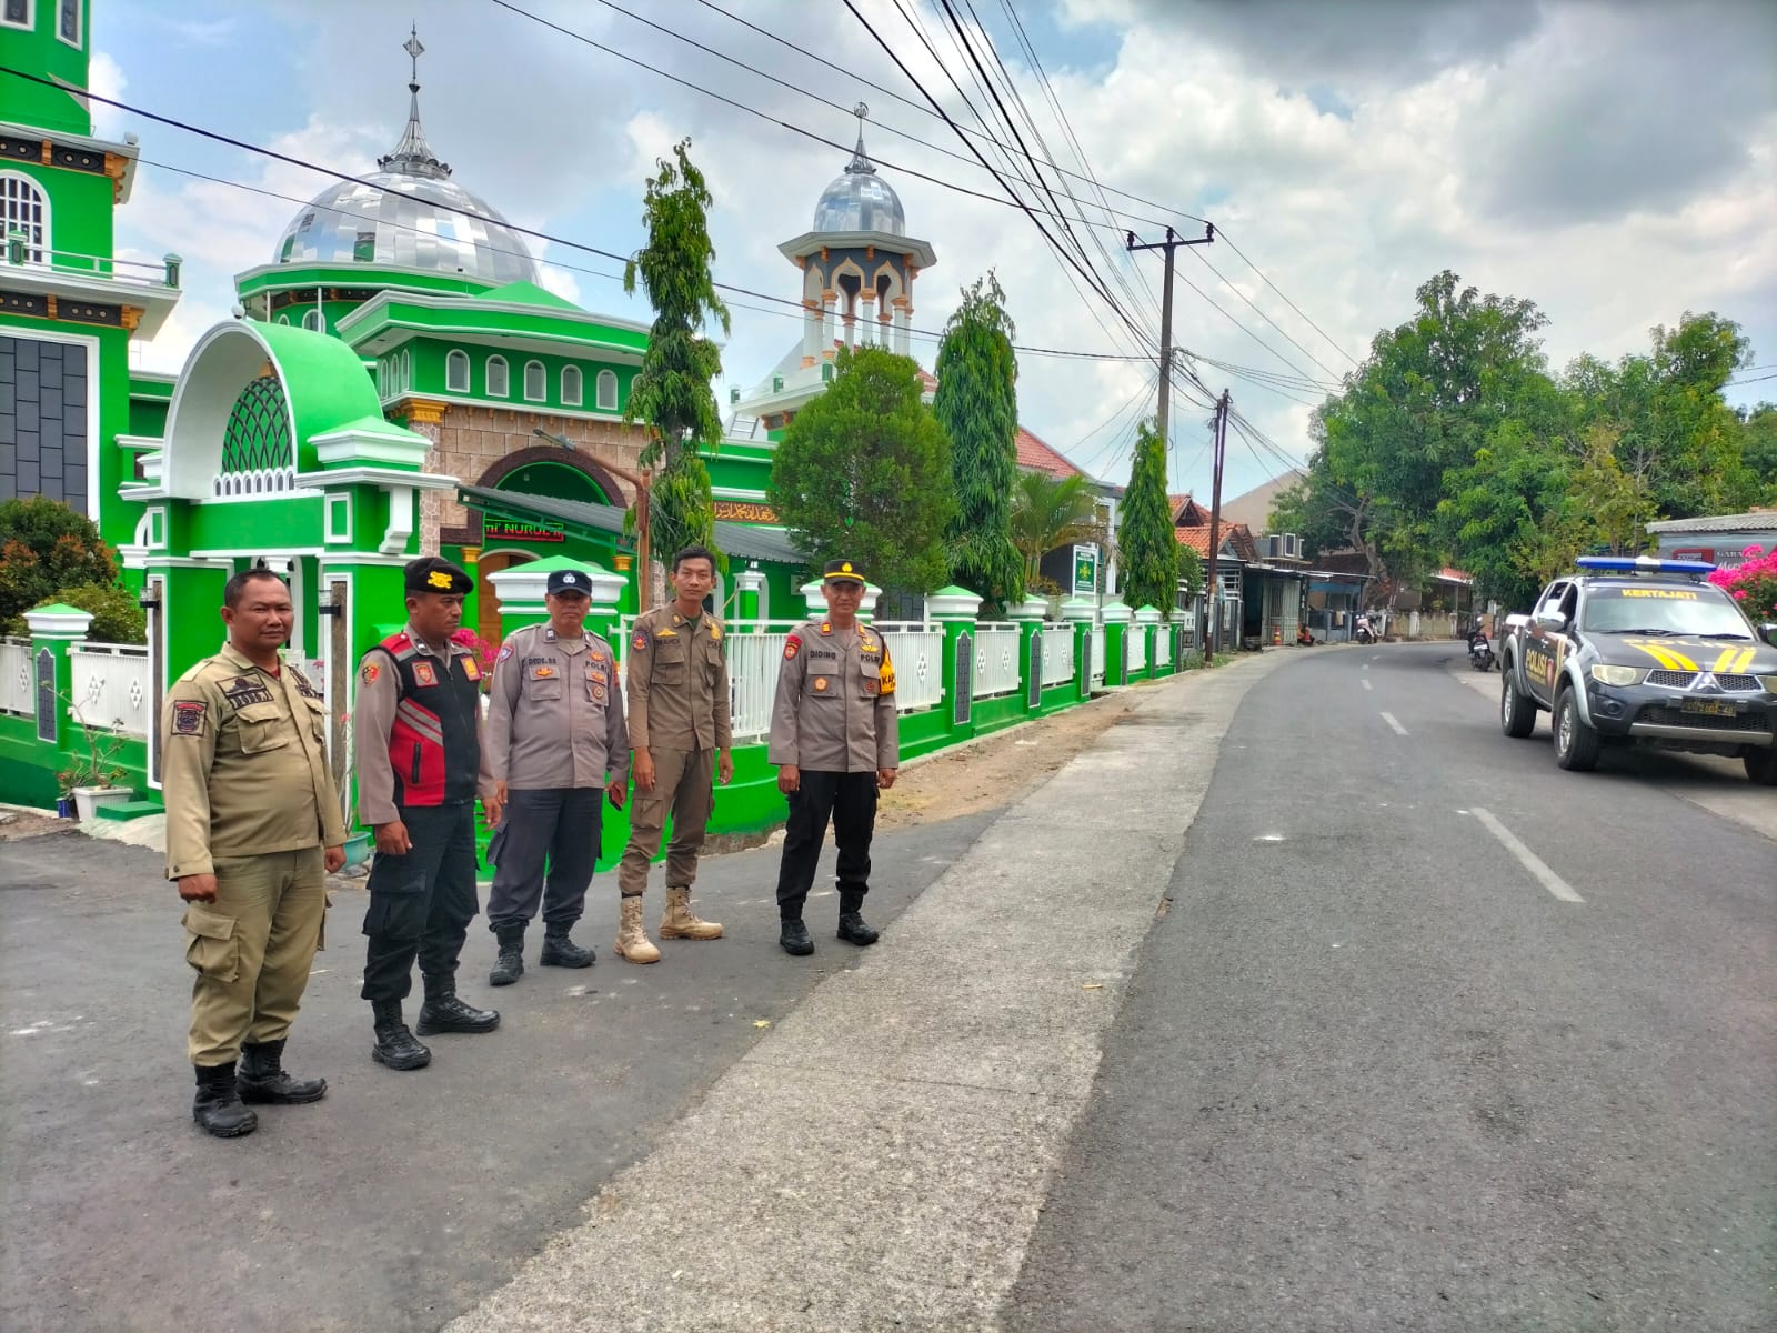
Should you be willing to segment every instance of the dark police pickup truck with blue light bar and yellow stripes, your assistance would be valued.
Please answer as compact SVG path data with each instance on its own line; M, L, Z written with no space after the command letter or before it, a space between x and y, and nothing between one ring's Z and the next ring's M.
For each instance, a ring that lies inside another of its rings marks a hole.
M1754 626L1704 581L1713 565L1598 556L1507 620L1500 727L1548 709L1555 762L1585 771L1606 745L1745 761L1777 786L1777 624Z

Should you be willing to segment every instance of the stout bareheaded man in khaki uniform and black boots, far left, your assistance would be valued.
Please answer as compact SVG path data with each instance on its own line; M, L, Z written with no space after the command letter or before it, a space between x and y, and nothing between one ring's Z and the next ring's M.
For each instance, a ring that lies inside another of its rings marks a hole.
M279 661L293 611L265 569L222 590L227 645L179 677L160 722L167 878L185 908L192 985L192 1118L217 1137L252 1134L247 1102L318 1102L284 1040L322 942L327 874L345 866L345 821L327 770L327 707ZM236 1061L240 1074L236 1079Z

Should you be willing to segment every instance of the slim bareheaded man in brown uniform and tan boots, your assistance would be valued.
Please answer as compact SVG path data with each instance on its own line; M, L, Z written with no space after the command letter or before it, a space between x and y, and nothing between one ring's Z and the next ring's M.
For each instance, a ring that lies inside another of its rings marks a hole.
M672 842L661 938L721 937L721 926L698 921L691 912L691 882L714 805L714 778L720 775L723 784L734 778L729 659L721 620L704 611L704 597L716 583L716 556L702 546L688 546L673 556L672 578L673 601L636 620L624 661L636 803L617 878L624 896L617 953L633 963L654 963L661 956L641 924L641 894L668 810Z

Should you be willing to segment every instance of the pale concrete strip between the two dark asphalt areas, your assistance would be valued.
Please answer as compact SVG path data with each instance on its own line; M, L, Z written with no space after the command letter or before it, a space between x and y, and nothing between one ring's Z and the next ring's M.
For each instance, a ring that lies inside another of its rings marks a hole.
M1143 691L450 1333L992 1328L1228 722L1287 661Z

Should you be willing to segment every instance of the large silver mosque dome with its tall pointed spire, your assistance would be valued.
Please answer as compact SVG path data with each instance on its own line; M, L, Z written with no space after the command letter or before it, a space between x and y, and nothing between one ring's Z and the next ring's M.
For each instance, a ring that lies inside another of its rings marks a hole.
M419 126L419 34L403 50L407 130L364 183L329 185L284 227L274 263L364 263L464 274L494 286L537 283L524 238L483 199L450 178Z

